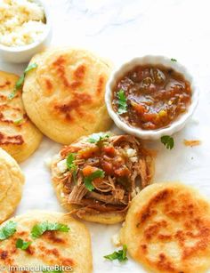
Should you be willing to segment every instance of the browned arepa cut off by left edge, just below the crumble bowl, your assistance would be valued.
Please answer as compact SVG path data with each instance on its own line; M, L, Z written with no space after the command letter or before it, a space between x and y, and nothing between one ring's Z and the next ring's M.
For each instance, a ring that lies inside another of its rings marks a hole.
M42 133L26 114L21 90L10 99L18 79L19 76L0 71L0 147L21 162L38 148Z

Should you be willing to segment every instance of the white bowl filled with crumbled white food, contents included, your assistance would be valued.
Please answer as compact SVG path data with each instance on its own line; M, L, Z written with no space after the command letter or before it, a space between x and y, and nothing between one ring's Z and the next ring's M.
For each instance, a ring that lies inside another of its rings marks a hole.
M51 20L42 0L2 0L0 2L0 58L27 62L51 39Z

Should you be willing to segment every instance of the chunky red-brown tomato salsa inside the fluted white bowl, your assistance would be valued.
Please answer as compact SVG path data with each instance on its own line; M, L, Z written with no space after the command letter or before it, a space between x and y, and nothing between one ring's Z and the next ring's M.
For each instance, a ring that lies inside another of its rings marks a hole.
M144 65L117 81L112 107L126 124L156 130L182 115L190 101L190 83L182 74L161 65Z

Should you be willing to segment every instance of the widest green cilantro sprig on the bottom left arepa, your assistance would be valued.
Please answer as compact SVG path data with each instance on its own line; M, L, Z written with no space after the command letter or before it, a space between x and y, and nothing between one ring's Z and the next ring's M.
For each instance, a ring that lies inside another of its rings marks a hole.
M38 238L43 235L45 231L69 232L69 227L61 223L49 223L48 221L44 221L33 227L31 230L31 236L33 238Z

